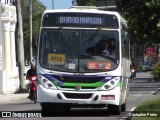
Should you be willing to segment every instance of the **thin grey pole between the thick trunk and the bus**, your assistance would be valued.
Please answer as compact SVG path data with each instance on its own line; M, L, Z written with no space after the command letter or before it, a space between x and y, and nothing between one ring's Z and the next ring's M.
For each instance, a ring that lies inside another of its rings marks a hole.
M30 61L32 62L32 0L30 0Z

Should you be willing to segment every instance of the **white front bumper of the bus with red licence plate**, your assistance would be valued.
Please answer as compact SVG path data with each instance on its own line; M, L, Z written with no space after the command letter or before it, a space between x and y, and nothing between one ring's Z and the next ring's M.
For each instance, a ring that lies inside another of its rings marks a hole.
M71 104L120 104L120 87L110 91L66 91L37 86L37 102Z

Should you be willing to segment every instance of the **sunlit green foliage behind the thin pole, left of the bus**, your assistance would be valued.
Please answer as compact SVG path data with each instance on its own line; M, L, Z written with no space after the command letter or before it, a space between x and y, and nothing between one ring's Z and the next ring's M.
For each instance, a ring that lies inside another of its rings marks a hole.
M30 9L29 5L24 4L21 0L22 19L23 19L23 34L24 34L24 52L25 59L30 59ZM41 14L46 7L39 0L32 0L32 40L34 41L39 34Z

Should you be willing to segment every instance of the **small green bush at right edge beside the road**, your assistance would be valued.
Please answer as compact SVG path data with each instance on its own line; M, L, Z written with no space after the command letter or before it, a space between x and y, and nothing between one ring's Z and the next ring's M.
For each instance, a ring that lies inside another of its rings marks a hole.
M155 81L160 81L160 61L153 66L152 74Z

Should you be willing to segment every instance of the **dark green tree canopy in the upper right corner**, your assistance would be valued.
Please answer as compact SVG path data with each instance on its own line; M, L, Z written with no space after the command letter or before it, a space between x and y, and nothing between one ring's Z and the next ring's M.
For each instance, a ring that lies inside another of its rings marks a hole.
M118 0L117 6L128 20L132 41L159 43L160 0Z

